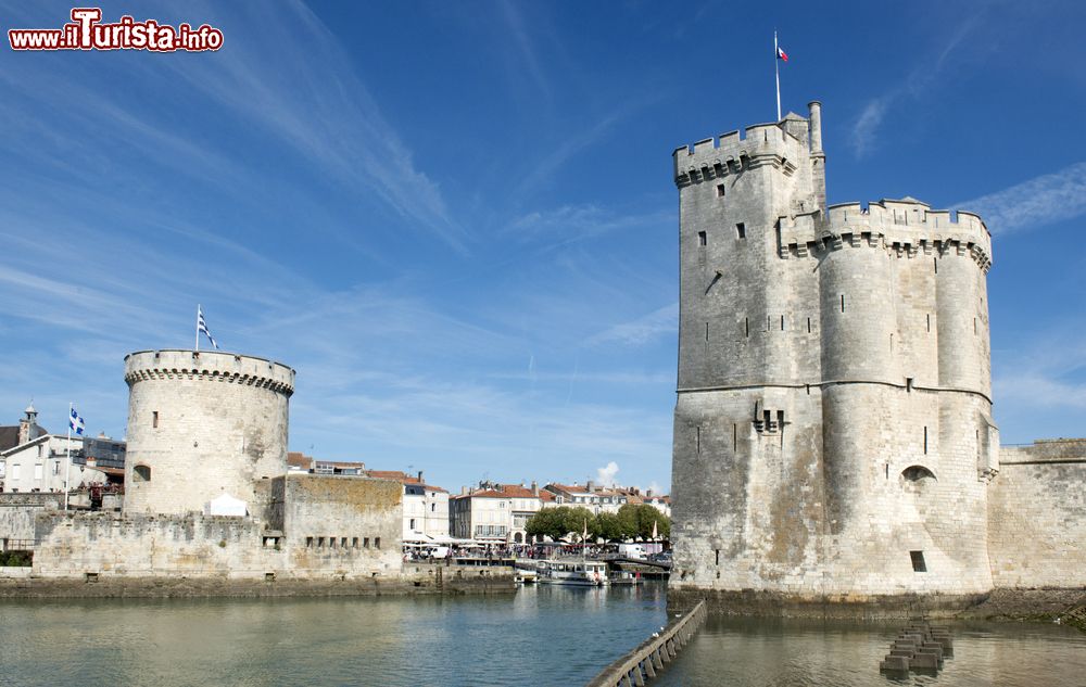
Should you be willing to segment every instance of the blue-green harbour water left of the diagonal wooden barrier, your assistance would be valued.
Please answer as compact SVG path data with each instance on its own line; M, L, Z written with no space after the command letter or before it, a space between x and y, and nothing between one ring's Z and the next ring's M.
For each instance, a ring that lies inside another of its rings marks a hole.
M0 683L569 685L665 622L659 585L491 597L14 601Z

